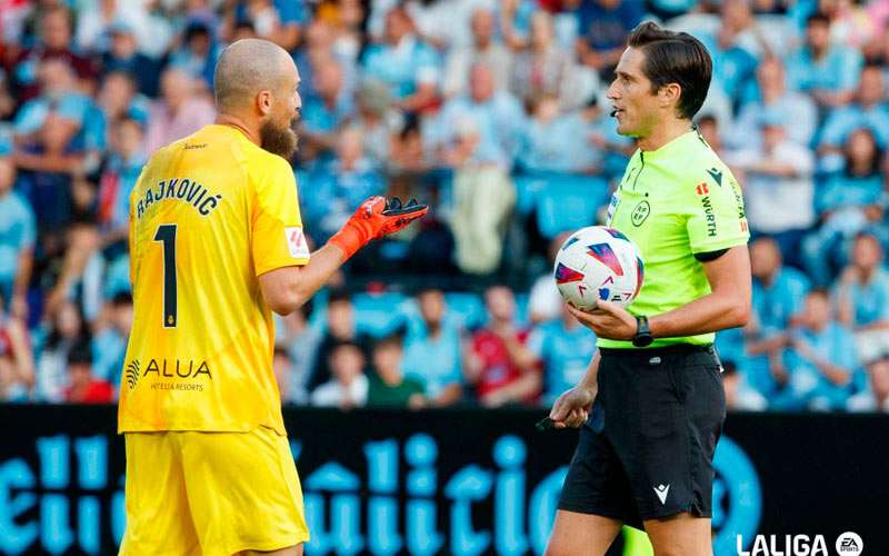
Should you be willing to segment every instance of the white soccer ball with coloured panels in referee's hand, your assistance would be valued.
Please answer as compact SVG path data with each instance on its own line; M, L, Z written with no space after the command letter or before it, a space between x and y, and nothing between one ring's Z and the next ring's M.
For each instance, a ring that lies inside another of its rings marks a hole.
M639 249L615 228L589 226L565 240L556 257L556 287L578 309L595 309L600 299L626 307L642 288Z

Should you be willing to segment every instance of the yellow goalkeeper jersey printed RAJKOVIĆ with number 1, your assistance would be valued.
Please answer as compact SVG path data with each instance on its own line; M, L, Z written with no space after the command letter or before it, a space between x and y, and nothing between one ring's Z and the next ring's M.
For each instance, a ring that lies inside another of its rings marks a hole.
M130 258L119 431L284 434L258 277L309 261L287 160L218 125L158 150L130 197Z

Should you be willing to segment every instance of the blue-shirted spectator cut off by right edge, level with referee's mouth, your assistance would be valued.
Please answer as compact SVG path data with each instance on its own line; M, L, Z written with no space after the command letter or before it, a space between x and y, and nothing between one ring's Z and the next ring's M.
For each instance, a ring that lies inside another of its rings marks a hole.
M835 155L840 159L842 146L857 129L869 129L877 146L889 146L889 106L886 103L886 83L879 66L866 66L855 101L830 111L821 129L818 153ZM828 167L827 169L832 169Z

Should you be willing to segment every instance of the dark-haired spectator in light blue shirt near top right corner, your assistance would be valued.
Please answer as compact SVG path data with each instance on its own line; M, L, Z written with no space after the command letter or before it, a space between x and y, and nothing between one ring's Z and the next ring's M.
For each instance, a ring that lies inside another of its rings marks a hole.
M787 61L790 87L807 91L822 107L840 107L855 96L862 57L830 41L830 18L815 13L806 22L806 43Z

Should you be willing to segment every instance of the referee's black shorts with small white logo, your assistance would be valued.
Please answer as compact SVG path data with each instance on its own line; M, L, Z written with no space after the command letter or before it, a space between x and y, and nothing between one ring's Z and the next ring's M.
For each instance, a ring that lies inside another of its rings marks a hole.
M559 509L639 528L686 512L711 517L713 450L726 419L716 350L601 349L598 383Z

